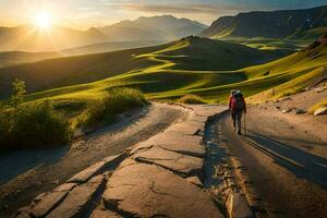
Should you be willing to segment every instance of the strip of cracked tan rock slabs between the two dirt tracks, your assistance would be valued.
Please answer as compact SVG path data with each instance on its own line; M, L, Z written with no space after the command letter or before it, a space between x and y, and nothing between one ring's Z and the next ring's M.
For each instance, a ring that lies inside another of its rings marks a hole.
M225 109L193 106L185 121L85 169L17 217L223 217L202 183L204 129Z

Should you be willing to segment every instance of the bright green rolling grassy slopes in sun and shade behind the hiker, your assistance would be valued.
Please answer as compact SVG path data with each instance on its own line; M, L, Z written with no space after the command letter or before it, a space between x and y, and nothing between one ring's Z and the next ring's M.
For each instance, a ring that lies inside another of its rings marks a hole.
M315 55L296 52L266 64L233 70L246 64L244 60L264 56L264 51L257 53L255 49L220 41L217 47L214 47L215 41L205 40L213 45L203 44L203 39L189 38L156 49L147 48L147 52L133 56L132 62L146 63L134 70L130 69L112 76L109 73L107 76L110 77L97 82L31 94L25 99L27 101L52 99L57 105L78 106L81 102L83 105L101 97L109 87L131 86L142 89L148 98L153 99L177 99L194 94L208 102L217 102L226 101L230 89L233 88L242 89L246 96L267 93L275 88L277 95L289 87L303 85L313 77L325 74L326 46L318 47L314 51ZM242 53L245 51L246 55ZM131 57L131 51L129 52ZM87 57L85 61L88 61ZM251 64L251 61L247 64ZM231 70L219 71L218 69Z

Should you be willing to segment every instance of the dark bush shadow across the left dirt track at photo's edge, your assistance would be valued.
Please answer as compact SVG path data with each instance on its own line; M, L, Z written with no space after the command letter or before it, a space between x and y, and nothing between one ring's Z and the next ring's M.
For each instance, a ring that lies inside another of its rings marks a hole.
M13 152L0 156L0 185L9 182L20 174L39 167L58 162L70 150L70 146L48 149L31 149Z

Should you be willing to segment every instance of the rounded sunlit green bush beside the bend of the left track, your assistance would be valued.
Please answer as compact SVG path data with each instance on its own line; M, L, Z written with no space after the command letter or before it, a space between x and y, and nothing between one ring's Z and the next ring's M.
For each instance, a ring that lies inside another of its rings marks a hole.
M112 88L106 96L94 101L86 111L85 126L95 123L108 123L121 112L133 108L141 108L148 104L140 90L134 88Z

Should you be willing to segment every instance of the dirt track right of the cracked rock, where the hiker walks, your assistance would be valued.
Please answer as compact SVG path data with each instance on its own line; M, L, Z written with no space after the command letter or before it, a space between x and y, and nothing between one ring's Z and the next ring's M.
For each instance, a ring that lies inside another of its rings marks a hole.
M229 113L219 125L263 199L281 217L326 217L327 119L259 106L246 120L247 140L234 134Z

